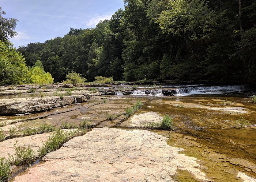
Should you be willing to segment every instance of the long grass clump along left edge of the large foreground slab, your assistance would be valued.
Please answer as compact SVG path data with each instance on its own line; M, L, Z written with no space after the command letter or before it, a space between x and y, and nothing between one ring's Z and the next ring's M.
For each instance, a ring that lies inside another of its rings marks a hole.
M43 142L43 145L39 147L39 158L42 159L46 154L59 149L63 143L82 134L84 134L84 131L79 132L79 130L57 130L52 132L52 134L49 136L49 139Z

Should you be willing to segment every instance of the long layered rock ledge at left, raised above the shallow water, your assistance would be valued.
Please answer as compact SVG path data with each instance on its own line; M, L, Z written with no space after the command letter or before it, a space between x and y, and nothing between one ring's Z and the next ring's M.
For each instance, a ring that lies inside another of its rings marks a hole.
M86 102L84 95L43 97L43 98L19 98L2 99L0 102L0 114L24 114L30 112L40 112L50 110L56 107L66 106L68 104Z

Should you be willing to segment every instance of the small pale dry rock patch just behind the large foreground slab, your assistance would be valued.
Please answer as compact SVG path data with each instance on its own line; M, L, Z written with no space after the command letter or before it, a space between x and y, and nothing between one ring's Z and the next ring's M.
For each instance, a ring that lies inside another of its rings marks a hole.
M158 112L146 112L139 115L133 115L131 119L126 120L121 124L121 126L135 126L141 127L145 123L158 123L163 119L162 116L158 114Z

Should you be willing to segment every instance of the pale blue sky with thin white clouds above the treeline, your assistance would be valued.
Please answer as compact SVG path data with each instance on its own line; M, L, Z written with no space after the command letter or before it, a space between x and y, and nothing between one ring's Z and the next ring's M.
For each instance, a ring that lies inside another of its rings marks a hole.
M0 0L0 7L3 17L19 20L18 35L10 39L18 48L63 37L71 27L93 28L124 5L123 0Z

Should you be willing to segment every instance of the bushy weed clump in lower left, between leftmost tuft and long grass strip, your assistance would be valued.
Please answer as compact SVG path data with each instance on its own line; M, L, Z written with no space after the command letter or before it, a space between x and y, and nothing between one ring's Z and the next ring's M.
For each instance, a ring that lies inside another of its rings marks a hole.
M11 157L13 158L13 161L11 161L11 163L13 165L31 165L35 158L35 151L30 149L31 146L29 145L28 147L26 147L25 144L23 144L23 146L20 146L18 145L17 141L15 141L14 147L15 157Z

